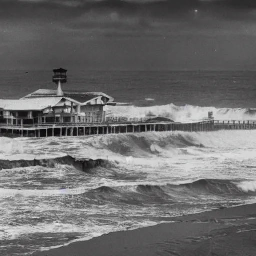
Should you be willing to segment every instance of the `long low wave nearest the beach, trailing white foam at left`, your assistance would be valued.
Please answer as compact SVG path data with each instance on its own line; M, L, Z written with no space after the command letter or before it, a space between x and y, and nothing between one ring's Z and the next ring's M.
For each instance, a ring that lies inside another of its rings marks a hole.
M163 204L185 202L189 200L216 200L218 198L238 199L244 196L255 196L256 181L238 181L224 179L199 179L184 184L170 183L111 183L90 188L86 185L77 188L63 189L0 189L1 196L22 194L24 196L43 195L80 195L84 202L91 204L98 201L121 202L125 204L142 205L145 203ZM210 203L210 201L208 201Z

